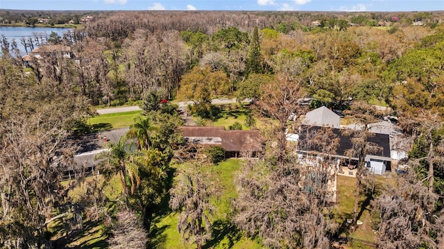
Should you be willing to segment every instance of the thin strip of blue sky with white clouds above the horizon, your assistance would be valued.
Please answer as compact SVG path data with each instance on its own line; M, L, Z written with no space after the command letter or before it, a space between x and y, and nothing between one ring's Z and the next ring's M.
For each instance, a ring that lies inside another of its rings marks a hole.
M432 11L444 0L0 0L0 9Z

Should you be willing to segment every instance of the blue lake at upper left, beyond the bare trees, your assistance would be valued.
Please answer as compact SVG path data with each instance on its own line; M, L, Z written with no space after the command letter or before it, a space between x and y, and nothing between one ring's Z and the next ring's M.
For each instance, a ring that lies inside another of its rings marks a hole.
M0 26L0 35L4 35L8 38L8 42L12 42L12 39L17 42L17 46L19 47L22 55L25 55L25 49L23 44L20 42L20 38L25 37L49 37L51 32L56 32L60 37L63 37L63 33L72 30L72 28L41 28L41 27L4 27ZM37 48L36 46L34 47ZM28 51L29 52L29 51ZM1 52L0 52L1 53Z

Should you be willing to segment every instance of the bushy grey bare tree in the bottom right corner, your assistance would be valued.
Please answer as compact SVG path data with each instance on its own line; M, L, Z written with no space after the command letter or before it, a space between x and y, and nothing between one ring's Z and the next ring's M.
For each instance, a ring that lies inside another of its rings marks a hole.
M436 212L438 198L414 173L398 177L375 200L381 218L379 246L441 248L444 230L443 214Z

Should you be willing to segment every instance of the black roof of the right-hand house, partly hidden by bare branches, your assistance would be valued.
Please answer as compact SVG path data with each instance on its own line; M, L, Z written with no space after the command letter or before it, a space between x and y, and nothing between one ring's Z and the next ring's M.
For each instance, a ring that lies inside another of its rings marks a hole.
M321 127L313 126L311 128L306 128L305 131L300 133L300 141L307 137L307 132L317 132ZM342 134L343 129L334 129L333 132L339 137L339 147L336 149L336 155L345 156L345 152L352 148L352 137L348 137ZM369 137L368 141L373 142L380 146L382 150L368 153L368 155L376 155L379 157L390 158L390 136L388 134L373 133L373 137ZM304 144L304 143L301 143ZM309 143L307 143L309 144ZM307 148L308 147L308 148ZM302 151L317 151L313 145L309 144L305 148L300 148Z

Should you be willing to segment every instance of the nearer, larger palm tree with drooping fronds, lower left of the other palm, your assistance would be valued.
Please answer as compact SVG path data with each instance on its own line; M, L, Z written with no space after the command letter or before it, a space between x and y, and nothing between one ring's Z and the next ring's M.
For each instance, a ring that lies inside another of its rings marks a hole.
M112 176L119 174L122 186L123 196L125 198L126 208L128 209L128 183L130 181L131 193L140 184L139 167L134 153L131 153L126 144L126 140L121 137L116 144L108 143L109 151L99 154L102 172L105 178L110 179Z

